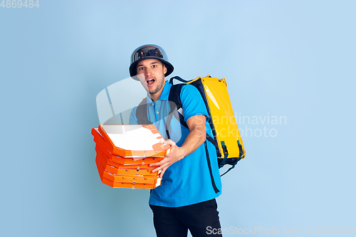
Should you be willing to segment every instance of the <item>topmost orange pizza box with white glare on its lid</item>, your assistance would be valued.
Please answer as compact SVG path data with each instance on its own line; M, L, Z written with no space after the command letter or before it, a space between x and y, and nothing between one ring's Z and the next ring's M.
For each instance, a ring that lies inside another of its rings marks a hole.
M155 125L99 125L98 130L109 152L120 157L165 157L170 152Z

